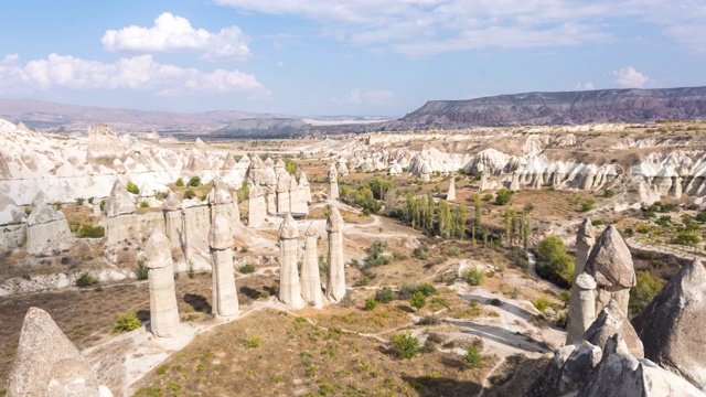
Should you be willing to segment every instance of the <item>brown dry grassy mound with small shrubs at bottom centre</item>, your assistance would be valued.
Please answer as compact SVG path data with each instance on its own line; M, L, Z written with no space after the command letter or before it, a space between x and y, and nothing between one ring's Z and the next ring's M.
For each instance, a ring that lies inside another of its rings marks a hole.
M254 335L258 346L248 344ZM474 395L494 363L467 369L460 356L437 350L400 360L375 339L265 310L197 336L145 377L136 395Z

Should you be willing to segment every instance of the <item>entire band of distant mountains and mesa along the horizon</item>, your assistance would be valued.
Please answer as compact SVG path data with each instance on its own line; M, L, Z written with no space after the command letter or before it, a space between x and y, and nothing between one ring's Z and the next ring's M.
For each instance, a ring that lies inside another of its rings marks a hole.
M0 118L40 130L85 130L107 122L118 131L196 132L211 138L285 138L475 126L577 125L705 119L706 87L595 89L430 100L398 120L217 110L200 114L111 109L32 99L0 99ZM193 137L193 135L191 135Z

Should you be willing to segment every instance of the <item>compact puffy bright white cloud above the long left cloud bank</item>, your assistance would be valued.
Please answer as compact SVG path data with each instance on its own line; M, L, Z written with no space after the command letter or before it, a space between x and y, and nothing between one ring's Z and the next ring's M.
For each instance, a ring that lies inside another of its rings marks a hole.
M130 25L119 31L108 30L100 42L113 52L203 52L206 61L244 60L250 55L248 37L233 25L218 33L194 29L188 19L164 12L151 28Z

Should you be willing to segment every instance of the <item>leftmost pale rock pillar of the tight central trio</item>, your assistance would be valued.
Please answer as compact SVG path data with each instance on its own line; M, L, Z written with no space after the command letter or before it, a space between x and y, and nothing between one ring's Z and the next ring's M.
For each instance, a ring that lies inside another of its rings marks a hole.
M304 307L297 269L299 229L290 213L279 228L279 300L297 309Z

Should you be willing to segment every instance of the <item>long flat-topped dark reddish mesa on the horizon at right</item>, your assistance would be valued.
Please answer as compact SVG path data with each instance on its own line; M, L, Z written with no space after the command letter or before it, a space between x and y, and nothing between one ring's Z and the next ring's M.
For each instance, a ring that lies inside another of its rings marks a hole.
M706 117L706 87L526 93L430 100L387 129L644 122Z

